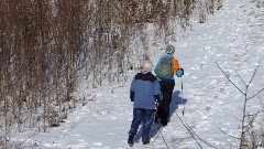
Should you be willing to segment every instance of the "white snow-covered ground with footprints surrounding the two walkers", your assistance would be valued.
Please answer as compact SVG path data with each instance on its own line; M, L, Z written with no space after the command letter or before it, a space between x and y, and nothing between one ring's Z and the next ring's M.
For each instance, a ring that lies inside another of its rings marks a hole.
M183 77L185 115L183 117L184 105L180 104L182 79L176 78L170 123L163 129L158 125L155 126L153 131L155 141L151 145L152 148L166 148L164 140L170 149L199 148L176 114L207 142L219 148L237 148L231 146L234 140L218 128L230 135L239 135L241 123L238 119L242 118L243 96L224 77L216 62L242 91L245 89L235 72L248 83L258 61L264 57L264 2L260 0L223 2L222 9L210 15L206 23L195 24L193 31L187 32L188 38L176 43L170 41L176 46L175 57L185 68ZM156 63L163 51L160 50L161 46L152 45L150 55L153 63ZM249 96L264 87L263 72L262 61ZM129 98L129 87L135 73L130 72L125 84L116 85L114 88L105 86L87 89L80 85L78 94L94 97L87 105L70 113L65 124L51 128L50 132L19 134L16 137L34 142L37 149L130 148L127 140L133 103ZM260 108L257 97L250 100L250 111ZM133 148L143 148L140 134L135 140L138 142ZM210 148L200 143L205 149Z

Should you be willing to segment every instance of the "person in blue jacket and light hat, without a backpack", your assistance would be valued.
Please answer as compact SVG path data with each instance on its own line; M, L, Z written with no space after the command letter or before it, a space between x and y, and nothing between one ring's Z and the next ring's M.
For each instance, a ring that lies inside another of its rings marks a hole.
M128 143L133 146L134 136L140 124L143 121L142 142L150 143L150 132L154 119L156 102L162 100L161 86L156 77L152 74L153 65L146 61L142 66L142 72L138 73L130 87L130 99L133 103L133 119L129 131Z

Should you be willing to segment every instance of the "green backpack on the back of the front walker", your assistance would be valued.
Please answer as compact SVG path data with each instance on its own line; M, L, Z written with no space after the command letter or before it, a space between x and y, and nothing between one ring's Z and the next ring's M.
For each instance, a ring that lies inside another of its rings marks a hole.
M162 57L156 66L156 76L163 81L169 81L173 77L173 60L170 57Z

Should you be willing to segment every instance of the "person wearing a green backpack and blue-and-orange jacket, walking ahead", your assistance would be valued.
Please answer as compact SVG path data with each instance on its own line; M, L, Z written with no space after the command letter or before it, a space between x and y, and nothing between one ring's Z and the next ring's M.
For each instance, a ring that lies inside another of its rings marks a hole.
M184 70L179 67L178 61L174 57L175 47L173 45L166 46L166 54L162 55L158 60L154 73L160 81L163 100L157 107L155 123L161 123L166 126L169 121L169 105L172 102L173 91L175 86L174 75L182 77Z

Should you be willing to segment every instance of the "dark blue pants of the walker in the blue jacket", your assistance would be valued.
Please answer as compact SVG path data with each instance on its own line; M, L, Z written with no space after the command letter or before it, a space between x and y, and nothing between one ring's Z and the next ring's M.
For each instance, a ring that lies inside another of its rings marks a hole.
M136 135L139 126L141 121L143 121L143 131L142 131L142 141L147 142L150 141L150 132L151 127L154 118L154 109L143 109L143 108L134 108L133 109L133 120L131 124L131 129L129 134Z

